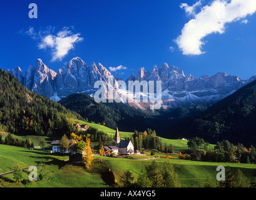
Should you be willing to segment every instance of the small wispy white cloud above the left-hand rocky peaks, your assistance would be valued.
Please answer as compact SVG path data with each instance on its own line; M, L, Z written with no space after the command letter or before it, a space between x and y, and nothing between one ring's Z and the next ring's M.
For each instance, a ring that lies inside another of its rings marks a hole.
M49 34L41 39L38 45L39 49L46 49L49 47L52 52L53 58L51 61L61 60L74 48L74 44L83 41L80 34L73 34L68 28L64 27L63 31L59 31L56 36Z

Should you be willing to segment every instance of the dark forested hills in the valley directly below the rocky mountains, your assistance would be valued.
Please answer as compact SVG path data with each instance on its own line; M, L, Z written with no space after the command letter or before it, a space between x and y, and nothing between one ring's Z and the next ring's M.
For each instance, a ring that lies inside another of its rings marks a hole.
M71 94L59 101L65 108L79 113L90 122L105 124L108 128L117 126L122 131L144 131L154 129L159 136L167 128L182 119L201 113L207 106L188 105L180 108L159 109L157 111L140 110L123 103L96 103L88 94Z

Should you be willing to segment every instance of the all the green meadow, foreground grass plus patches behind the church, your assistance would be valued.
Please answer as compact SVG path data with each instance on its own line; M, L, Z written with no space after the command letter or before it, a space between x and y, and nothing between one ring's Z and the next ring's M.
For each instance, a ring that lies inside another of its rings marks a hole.
M76 122L76 119L73 119ZM81 124L85 122L80 121ZM94 128L98 128L107 134L113 136L115 130L106 128L106 126L94 123L86 123ZM7 133L1 133L3 138ZM133 133L125 133L120 131L122 139L131 136ZM41 136L16 136L23 139L31 138L35 146L39 146L38 141ZM50 143L53 139L43 137L48 142L47 146L51 146ZM180 181L182 187L203 187L203 184L210 179L213 186L216 186L217 166L229 166L232 171L236 171L238 168L242 171L251 183L256 183L256 164L240 164L240 163L211 163L202 161L190 161L185 159L178 159L178 152L182 153L187 151L187 141L182 139L165 139L160 138L163 145L173 145L176 153L168 154L175 159L166 159L163 156L167 154L156 153L158 159L154 159L158 163L169 162L173 164L175 173L178 174L178 181ZM214 144L210 144L209 148L213 149ZM128 158L110 158L103 156L103 163L100 162L101 156L94 156L93 163L95 166L90 171L83 168L83 166L74 166L65 162L68 156L59 156L51 154L49 151L43 150L30 150L28 148L20 148L16 146L7 146L0 144L0 174L8 171L13 171L15 164L19 164L23 168L28 166L38 166L40 163L44 163L43 179L39 181L29 182L28 184L16 184L13 179L13 174L7 174L1 176L2 187L111 187L106 183L106 179L96 169L109 168L108 170L113 173L117 183L120 183L120 175L127 169L130 169L135 176L135 181L141 173L141 170L145 169L146 164L152 162L152 159L140 160L152 158L152 156L128 156ZM29 171L24 170L24 174L28 176Z

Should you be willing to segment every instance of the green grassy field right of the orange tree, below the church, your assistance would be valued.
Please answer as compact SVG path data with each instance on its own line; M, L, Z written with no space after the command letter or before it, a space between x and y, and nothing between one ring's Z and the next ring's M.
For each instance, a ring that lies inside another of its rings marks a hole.
M135 175L135 180L141 173L141 170L145 169L146 164L152 162L152 160L141 161L131 159L118 159L118 158L104 158L106 162L111 166L117 181L120 181L120 175L123 171L130 169ZM203 187L203 184L210 179L213 186L216 186L217 166L229 166L232 171L237 171L239 168L251 183L256 183L256 165L255 164L236 164L236 163L210 163L200 161L190 161L183 159L155 159L156 162L170 162L175 168L175 173L178 174L178 180L182 187Z

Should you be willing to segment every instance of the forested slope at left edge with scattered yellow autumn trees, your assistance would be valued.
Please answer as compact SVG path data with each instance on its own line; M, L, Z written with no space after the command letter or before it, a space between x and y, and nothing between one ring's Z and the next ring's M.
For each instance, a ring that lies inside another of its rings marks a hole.
M0 69L0 130L14 134L61 135L74 131L68 118L83 119L61 104L39 96Z

